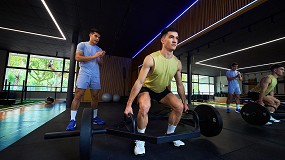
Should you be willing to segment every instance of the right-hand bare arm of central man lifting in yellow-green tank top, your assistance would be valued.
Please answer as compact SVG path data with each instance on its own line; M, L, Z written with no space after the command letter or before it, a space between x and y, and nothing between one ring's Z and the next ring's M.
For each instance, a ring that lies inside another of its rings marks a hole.
M182 79L181 79L181 71L182 71L182 64L181 61L179 61L178 63L178 70L174 76L175 80L176 80L176 86L177 86L177 92L179 97L182 100L183 106L184 106L184 111L188 110L188 106L186 103L186 96L185 96L185 89L182 83Z

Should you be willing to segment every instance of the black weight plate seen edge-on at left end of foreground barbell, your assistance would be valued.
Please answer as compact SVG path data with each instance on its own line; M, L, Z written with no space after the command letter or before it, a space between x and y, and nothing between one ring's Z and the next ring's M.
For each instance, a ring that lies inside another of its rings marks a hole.
M81 128L80 128L80 159L89 160L92 153L92 118L93 110L92 108L84 108L82 118L81 118Z

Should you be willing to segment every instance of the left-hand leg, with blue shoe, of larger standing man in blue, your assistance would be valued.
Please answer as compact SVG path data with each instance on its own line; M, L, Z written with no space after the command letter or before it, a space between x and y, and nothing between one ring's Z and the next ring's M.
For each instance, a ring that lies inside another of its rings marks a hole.
M71 103L70 122L66 127L67 131L75 130L77 110L80 105L81 98L84 95L84 92L85 92L85 89L79 89L79 88L75 89L75 95Z

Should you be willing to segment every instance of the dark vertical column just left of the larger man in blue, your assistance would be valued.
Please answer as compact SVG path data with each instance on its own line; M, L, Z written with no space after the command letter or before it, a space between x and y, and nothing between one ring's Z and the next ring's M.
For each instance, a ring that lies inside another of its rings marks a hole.
M70 52L70 65L69 65L69 75L68 75L68 86L67 86L67 96L66 96L66 107L70 108L73 100L73 85L75 77L75 51L78 43L78 32L73 32L71 52Z

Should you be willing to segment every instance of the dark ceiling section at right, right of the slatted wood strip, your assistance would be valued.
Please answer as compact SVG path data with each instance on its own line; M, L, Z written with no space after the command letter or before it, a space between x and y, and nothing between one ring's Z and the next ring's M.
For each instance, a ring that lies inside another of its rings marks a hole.
M285 6L281 5L281 1L271 0L178 48L175 55L183 57L183 65L187 64L187 54L194 56L193 74L218 76L221 72L222 75L225 75L223 69L201 66L195 63L285 37L284 19ZM285 40L280 40L205 63L229 68L229 65L234 61L238 62L240 67L285 61L284 46ZM244 69L241 72L268 70L268 67ZM186 66L183 67L183 72L186 72L186 69Z

